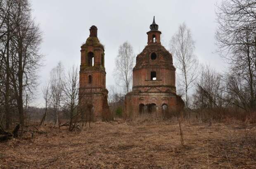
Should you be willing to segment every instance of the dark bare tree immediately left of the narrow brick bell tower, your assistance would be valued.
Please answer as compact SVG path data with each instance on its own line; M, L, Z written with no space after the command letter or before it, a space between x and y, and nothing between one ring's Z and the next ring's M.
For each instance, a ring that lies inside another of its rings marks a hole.
M78 116L78 92L79 92L79 70L78 67L72 66L68 71L64 83L64 103L69 110L69 131L75 127L73 118ZM76 118L77 119L77 118Z

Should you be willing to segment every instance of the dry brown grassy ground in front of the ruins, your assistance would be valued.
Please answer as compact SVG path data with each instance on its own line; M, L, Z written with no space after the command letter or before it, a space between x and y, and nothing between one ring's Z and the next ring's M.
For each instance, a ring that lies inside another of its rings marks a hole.
M0 143L0 168L256 168L256 125L95 122Z

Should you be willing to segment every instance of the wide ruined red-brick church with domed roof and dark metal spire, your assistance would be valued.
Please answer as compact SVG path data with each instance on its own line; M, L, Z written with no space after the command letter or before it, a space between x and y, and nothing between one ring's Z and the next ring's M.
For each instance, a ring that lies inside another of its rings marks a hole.
M163 116L184 106L176 94L172 55L161 45L160 35L161 31L153 20L147 32L147 46L136 57L132 92L125 97L128 117L144 113Z

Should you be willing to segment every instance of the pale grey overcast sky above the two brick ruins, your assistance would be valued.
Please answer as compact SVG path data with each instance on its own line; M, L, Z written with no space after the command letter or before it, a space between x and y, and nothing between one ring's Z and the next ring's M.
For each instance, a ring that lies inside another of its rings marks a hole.
M171 36L185 22L195 40L195 54L200 63L222 71L223 60L214 45L216 31L215 4L219 0L32 0L33 17L43 31L41 52L45 66L40 84L50 78L50 70L62 61L66 69L80 65L81 44L89 36L92 25L105 46L106 86L115 85L112 72L119 46L128 41L135 54L147 45L149 25L155 16L161 41L168 49ZM35 106L42 106L41 85Z

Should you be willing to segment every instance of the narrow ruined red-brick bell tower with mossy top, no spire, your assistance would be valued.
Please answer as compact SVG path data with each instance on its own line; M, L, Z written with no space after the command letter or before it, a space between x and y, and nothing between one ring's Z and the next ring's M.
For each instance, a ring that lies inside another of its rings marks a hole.
M104 46L97 38L97 27L90 27L90 36L81 46L79 103L82 112L102 117L109 111L107 103Z

